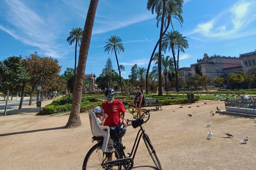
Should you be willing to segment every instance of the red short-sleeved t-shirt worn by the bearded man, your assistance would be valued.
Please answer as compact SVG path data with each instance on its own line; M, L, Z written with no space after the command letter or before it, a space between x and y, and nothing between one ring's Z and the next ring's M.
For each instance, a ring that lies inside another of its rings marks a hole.
M119 100L114 100L113 103L103 102L101 104L104 113L108 115L103 126L114 127L120 125L120 113L125 113L124 105Z

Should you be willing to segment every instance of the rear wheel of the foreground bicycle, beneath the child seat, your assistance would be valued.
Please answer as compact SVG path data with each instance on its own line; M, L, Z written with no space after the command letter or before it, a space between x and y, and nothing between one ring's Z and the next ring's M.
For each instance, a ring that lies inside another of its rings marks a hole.
M86 154L83 163L83 170L105 170L112 168L113 170L124 170L124 166L108 165L108 159L112 156L112 160L123 158L118 148L112 153L103 152L101 150L102 143L95 144Z

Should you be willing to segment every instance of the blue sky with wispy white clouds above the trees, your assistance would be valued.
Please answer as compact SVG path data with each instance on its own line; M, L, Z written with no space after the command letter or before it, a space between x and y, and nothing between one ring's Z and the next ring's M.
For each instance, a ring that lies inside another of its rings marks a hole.
M15 55L52 56L62 66L74 68L75 43L66 41L72 28L84 28L89 0L1 0L0 60ZM159 39L156 15L146 9L147 0L99 0L85 73L98 76L108 57L118 72L114 53L104 52L110 36L122 39L118 54L128 79L131 67L147 68ZM184 0L182 28L172 18L174 30L187 37L189 48L180 54L180 67L190 67L204 53L239 56L256 49L255 0ZM169 27L169 31L171 27ZM165 56L171 55L166 51ZM78 56L78 55L77 55ZM151 63L151 68L154 63Z

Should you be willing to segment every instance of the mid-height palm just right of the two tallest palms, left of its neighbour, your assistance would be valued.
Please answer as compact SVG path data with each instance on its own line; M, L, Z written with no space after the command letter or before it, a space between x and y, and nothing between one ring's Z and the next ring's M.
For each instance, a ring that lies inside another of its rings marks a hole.
M176 91L179 91L179 84L178 84L178 73L177 73L177 66L176 66L176 59L175 59L175 52L174 49L177 48L177 40L179 39L179 32L178 31L171 31L164 35L163 37L163 51L166 52L172 49L173 61L174 61L174 68L175 68L175 78L176 78Z

